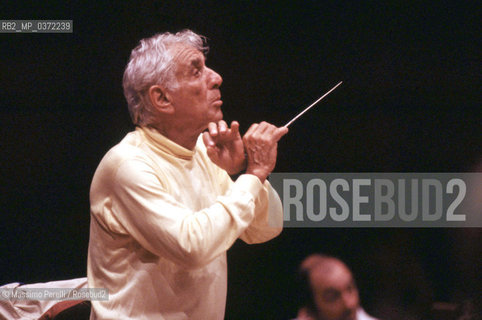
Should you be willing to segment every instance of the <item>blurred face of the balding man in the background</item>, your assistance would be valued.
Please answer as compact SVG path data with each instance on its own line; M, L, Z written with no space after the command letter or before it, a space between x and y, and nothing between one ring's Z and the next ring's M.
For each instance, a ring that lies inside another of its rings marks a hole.
M345 265L337 263L328 271L314 268L310 283L319 319L355 319L359 306L358 289Z

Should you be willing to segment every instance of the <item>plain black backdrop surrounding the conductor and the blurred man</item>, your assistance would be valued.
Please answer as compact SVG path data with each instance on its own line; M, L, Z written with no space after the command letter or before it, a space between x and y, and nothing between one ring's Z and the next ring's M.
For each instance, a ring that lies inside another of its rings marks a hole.
M122 74L157 32L208 37L242 130L283 125L344 81L290 127L277 172L481 170L476 1L16 2L0 18L74 21L72 34L0 34L0 284L85 276L89 185L133 129ZM229 251L226 317L295 316L312 252L347 261L378 316L481 289L480 229L285 229Z

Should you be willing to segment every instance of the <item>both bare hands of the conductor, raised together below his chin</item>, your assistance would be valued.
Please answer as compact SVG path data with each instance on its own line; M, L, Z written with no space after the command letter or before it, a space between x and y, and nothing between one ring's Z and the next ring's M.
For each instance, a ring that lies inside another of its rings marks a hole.
M263 121L251 125L241 138L237 121L233 121L229 128L221 120L209 123L203 140L211 161L228 174L233 175L246 168L246 173L264 182L276 165L278 141L287 132L288 128L278 128Z

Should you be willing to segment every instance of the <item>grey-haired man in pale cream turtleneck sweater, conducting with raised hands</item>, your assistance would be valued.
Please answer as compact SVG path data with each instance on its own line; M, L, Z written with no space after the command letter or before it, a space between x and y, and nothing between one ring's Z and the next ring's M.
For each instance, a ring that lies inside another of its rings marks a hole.
M281 232L266 178L288 129L262 122L241 138L228 126L206 51L185 30L131 53L123 86L136 129L104 156L90 192L87 277L109 290L91 319L223 319L226 251Z

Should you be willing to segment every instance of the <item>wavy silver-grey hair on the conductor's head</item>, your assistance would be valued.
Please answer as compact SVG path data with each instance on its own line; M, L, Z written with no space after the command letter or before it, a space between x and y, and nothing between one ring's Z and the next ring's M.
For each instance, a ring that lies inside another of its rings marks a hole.
M174 44L194 47L204 55L209 49L204 36L187 29L175 34L156 34L139 42L131 52L122 80L124 96L135 125L150 125L156 119L156 110L148 97L152 85L162 85L171 90L178 86L176 65L169 50Z

